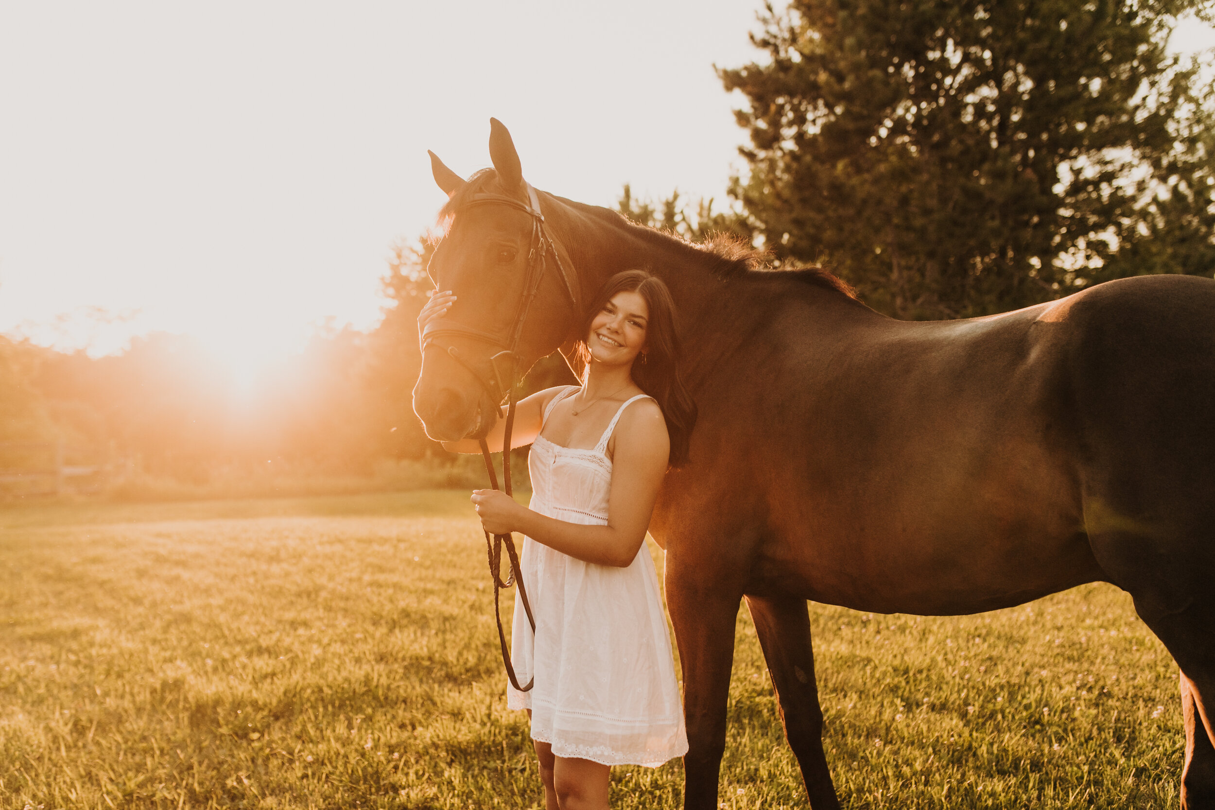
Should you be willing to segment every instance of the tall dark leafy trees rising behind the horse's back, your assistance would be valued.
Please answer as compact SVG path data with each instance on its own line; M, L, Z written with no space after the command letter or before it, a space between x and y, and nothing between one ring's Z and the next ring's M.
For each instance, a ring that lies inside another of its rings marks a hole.
M747 98L742 202L778 260L904 318L1215 270L1213 104L1166 52L1197 0L792 0Z

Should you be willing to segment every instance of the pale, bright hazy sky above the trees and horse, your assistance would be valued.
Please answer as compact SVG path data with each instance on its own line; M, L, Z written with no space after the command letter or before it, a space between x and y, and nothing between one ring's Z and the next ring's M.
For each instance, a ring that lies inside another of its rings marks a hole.
M426 149L614 205L724 200L758 0L0 6L0 333L100 355L196 335L238 375L373 327ZM1174 47L1210 46L1197 24Z

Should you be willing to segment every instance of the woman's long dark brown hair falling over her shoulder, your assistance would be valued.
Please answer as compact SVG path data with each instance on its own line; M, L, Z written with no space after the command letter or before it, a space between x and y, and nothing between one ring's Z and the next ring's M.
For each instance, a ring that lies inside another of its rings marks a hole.
M671 438L671 466L688 461L688 443L696 425L696 403L684 386L679 370L680 346L676 327L676 304L666 282L644 270L626 270L609 278L594 305L587 311L582 324L583 340L578 344L578 359L590 362L590 349L586 335L590 334L590 322L603 311L617 293L637 293L645 300L650 317L645 327L645 353L633 361L633 381L649 393L662 409Z

